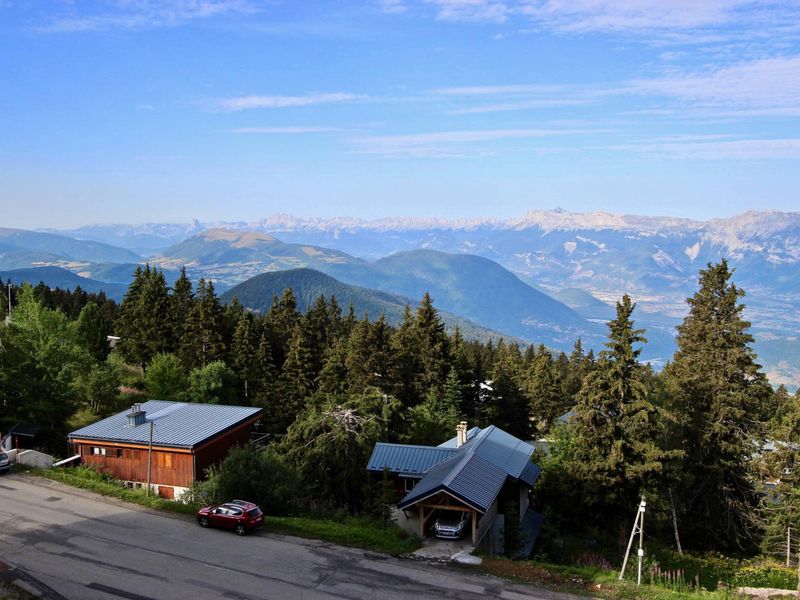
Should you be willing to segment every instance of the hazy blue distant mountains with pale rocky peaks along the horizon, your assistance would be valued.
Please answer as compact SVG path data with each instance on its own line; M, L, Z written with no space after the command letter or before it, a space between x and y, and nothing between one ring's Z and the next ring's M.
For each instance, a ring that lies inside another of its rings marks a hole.
M770 377L800 383L800 313L795 310L800 301L800 213L750 212L710 221L560 210L531 211L517 219L459 221L275 215L255 222L102 225L59 233L84 243L118 245L169 269L185 264L193 278L204 275L223 286L263 271L309 267L347 284L415 299L425 288L440 308L509 333L508 324L518 322L520 313L506 305L528 306L516 294L530 295L532 287L567 304L581 319L581 325L575 325L575 317L564 313L566 320L554 325L556 313L546 312L550 305L531 305L531 315L544 311L541 314L548 316L543 323L562 330L537 329L534 317L523 337L556 347L563 347L578 330L590 337L598 331L604 334L599 323L613 315L613 303L627 292L638 303L637 323L648 329L648 352L662 360L671 355L674 326L686 313L685 299L696 289L698 270L725 257L736 269L735 282L747 292L745 314L753 322L756 350ZM63 246L43 244L26 250L16 242L9 255L4 245L8 243L0 236L3 269L11 268L9 261L24 267L36 260L76 272L82 268L95 276L91 262L136 262L130 255L77 259ZM444 254L389 257L418 250ZM471 258L465 264L454 260L466 255ZM507 280L490 275L491 270L485 279L476 278L485 265L479 268L472 262L475 257L494 261L530 287L524 292L516 286L503 288L496 297L505 302L491 307L481 299L482 289ZM472 293L464 295L464 290ZM486 322L487 315L496 324Z

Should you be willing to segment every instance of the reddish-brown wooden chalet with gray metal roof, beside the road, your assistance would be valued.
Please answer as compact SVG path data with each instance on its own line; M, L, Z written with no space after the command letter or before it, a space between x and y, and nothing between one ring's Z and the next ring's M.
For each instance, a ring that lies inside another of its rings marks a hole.
M236 445L262 409L151 400L69 434L81 463L133 487L179 498ZM152 428L152 443L151 443Z

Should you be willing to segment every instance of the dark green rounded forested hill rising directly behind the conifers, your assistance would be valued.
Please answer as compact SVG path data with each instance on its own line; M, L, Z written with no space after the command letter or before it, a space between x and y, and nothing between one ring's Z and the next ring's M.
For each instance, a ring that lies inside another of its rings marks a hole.
M314 269L290 269L288 271L275 271L262 273L240 283L220 296L220 299L229 303L233 298L250 310L266 314L272 306L274 297L280 297L284 290L294 292L297 309L305 312L314 306L320 296L336 298L336 302L344 312L352 305L356 317L365 314L374 321L384 315L386 321L398 325L403 320L403 311L406 305L412 309L419 305L418 300L411 300L405 296L372 290L355 285L348 285L341 281L315 271ZM423 292L424 293L424 292ZM420 295L421 297L421 295ZM435 298L434 298L435 300ZM448 329L452 330L458 325L462 335L468 339L488 340L506 339L516 340L513 336L481 327L472 321L449 314L440 313Z

